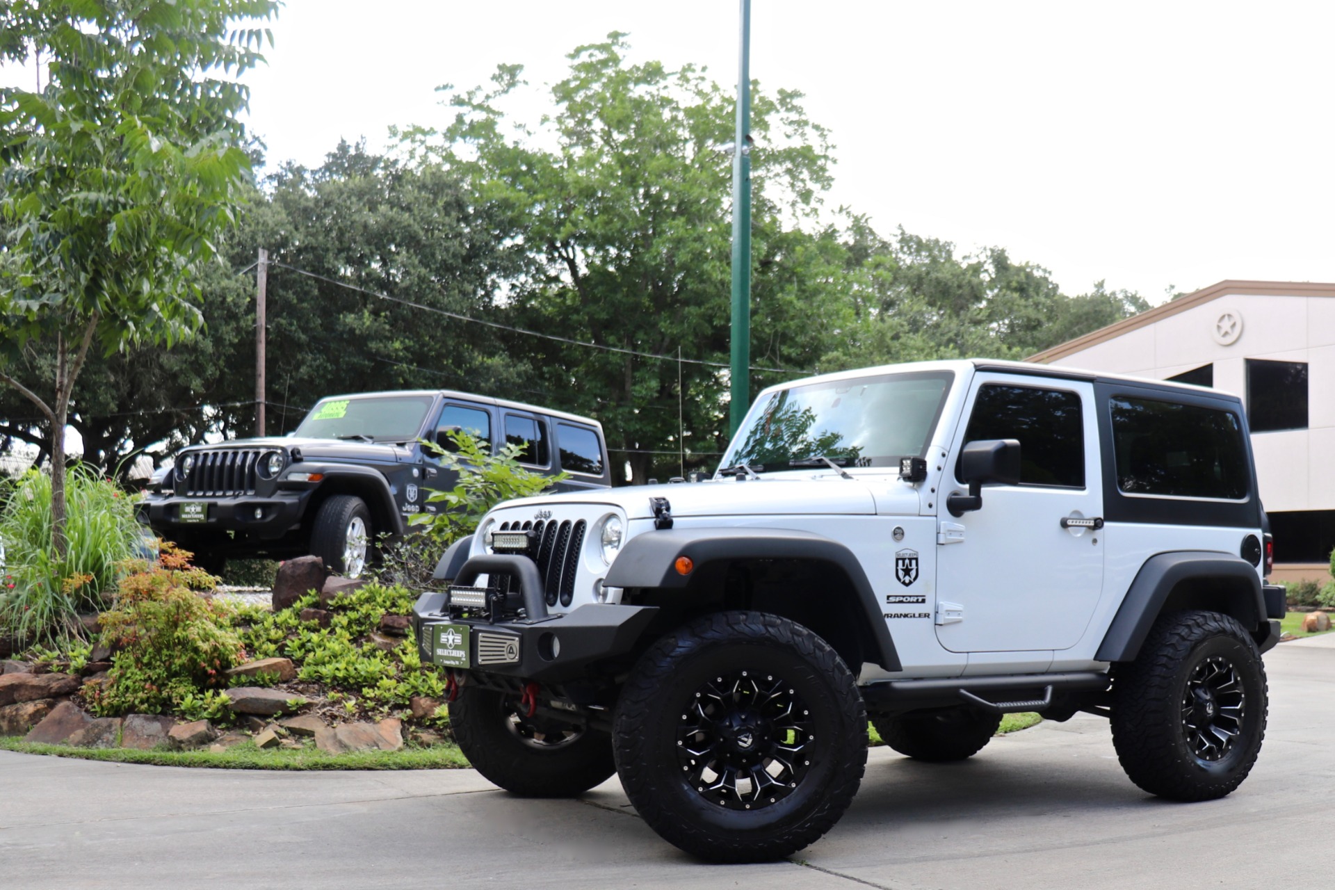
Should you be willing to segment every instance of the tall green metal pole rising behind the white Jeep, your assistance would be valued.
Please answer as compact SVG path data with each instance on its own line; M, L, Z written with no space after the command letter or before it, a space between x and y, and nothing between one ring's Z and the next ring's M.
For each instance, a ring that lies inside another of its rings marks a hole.
M750 0L741 0L737 137L733 140L733 362L729 435L750 407Z

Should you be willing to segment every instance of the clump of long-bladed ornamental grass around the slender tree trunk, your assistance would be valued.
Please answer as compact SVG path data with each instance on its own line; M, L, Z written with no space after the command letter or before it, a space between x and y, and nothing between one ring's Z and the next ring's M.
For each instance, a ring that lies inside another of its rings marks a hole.
M134 500L115 482L71 467L65 476L69 550L56 559L51 552L51 476L29 470L4 480L0 499L5 504L0 540L9 575L0 591L0 632L33 643L81 636L75 616L107 604L116 567L143 540Z

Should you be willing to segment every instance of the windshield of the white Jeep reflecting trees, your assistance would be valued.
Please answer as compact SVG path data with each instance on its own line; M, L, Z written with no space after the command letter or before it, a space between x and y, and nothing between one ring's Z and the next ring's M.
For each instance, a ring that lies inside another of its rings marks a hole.
M925 456L955 374L914 371L780 390L752 407L724 456L766 471L825 456L849 467Z

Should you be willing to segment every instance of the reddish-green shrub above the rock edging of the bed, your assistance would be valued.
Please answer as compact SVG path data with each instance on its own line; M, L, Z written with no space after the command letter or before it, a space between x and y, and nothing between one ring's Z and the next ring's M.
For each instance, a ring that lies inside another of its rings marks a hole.
M164 546L156 563L139 560L103 612L103 642L116 648L107 683L87 687L93 713L222 715L216 691L226 670L246 658L231 610L207 596L215 579ZM215 691L215 695L208 695Z

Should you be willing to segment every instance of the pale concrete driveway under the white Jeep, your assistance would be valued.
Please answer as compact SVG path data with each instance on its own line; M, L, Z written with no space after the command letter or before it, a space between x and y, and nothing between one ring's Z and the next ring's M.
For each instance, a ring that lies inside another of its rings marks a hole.
M853 807L793 862L708 866L615 779L521 801L471 770L243 773L0 751L0 887L1330 887L1335 634L1266 658L1270 730L1231 797L1165 803L1093 717L969 762L874 749Z

